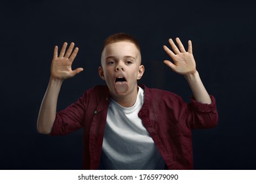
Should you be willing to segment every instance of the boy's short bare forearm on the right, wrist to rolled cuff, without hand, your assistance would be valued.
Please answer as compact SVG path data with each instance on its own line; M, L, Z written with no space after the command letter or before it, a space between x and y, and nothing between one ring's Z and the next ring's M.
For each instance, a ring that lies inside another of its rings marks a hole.
M185 75L185 78L187 79L187 82L189 82L194 99L200 103L211 104L211 98L206 91L206 88L204 88L199 73L196 71L195 73Z

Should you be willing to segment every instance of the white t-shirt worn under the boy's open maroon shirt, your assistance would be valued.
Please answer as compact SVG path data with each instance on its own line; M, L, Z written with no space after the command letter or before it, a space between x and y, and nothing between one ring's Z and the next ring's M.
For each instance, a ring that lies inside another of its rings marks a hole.
M144 91L140 87L132 107L122 107L111 99L100 169L164 169L164 159L137 116L143 101Z

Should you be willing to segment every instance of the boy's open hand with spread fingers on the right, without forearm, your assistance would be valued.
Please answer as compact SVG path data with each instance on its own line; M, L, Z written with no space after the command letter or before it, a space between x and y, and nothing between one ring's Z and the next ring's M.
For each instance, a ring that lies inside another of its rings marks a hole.
M189 41L189 48L187 52L179 38L176 38L176 42L179 48L177 48L172 39L169 39L169 43L174 52L164 45L164 50L174 61L174 63L172 63L172 61L164 60L164 63L175 73L179 73L181 75L196 73L196 62L194 61L194 56L192 54L192 42Z

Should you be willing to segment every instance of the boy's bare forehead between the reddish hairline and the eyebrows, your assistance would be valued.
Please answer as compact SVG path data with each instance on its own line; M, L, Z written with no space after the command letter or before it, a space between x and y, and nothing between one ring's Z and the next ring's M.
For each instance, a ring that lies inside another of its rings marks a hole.
M119 41L107 44L101 54L101 58L105 59L109 56L133 56L134 58L137 58L138 55L139 50L134 43L128 41Z

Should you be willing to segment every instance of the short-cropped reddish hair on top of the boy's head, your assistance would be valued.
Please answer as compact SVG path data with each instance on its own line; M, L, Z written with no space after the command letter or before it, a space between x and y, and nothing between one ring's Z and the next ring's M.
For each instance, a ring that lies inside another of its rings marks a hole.
M131 35L129 35L127 33L115 33L115 34L107 37L107 39L105 39L105 41L104 41L102 52L108 44L111 44L114 42L120 42L120 41L127 41L127 42L134 43L136 45L137 49L139 50L139 52L141 52L139 43L136 41L136 39L134 37L132 37Z

